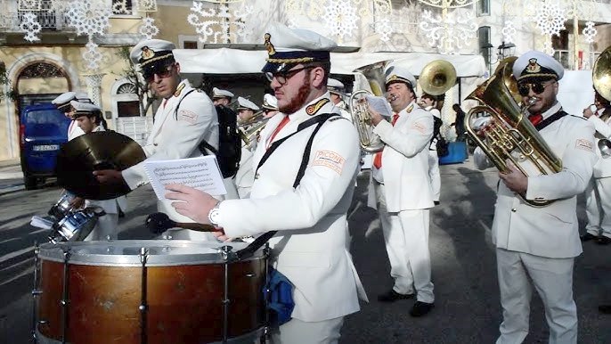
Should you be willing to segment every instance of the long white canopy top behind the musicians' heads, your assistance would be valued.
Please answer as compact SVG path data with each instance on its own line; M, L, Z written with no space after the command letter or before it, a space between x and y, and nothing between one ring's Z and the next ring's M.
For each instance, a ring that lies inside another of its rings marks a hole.
M252 74L260 73L267 51L220 49L175 49L175 59L181 73L203 74ZM430 61L452 62L459 78L482 77L488 70L481 55L442 55L439 53L331 53L331 73L353 74L353 70L365 65L394 60L393 64L410 70L414 76Z

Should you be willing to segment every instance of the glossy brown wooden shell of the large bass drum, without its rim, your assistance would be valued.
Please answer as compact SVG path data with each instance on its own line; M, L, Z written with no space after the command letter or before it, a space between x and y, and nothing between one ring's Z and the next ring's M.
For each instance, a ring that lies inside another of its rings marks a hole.
M41 257L38 332L61 340L64 264ZM136 343L141 340L142 267L69 263L67 340ZM224 264L146 267L148 343L223 340ZM228 337L264 325L265 258L228 264Z

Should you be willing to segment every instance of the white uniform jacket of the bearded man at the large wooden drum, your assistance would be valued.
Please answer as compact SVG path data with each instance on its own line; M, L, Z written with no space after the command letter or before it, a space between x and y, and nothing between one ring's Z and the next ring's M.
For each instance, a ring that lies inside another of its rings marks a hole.
M297 126L312 116L329 112L338 110L327 93L289 115L289 123L273 141L296 132ZM253 157L254 168L285 117L279 113L265 126ZM294 189L314 127L293 135L270 155L256 173L249 199L223 201L219 209L219 225L230 237L279 231L270 240L275 267L295 286L292 317L305 322L359 310L360 282L346 249L346 211L360 159L358 137L346 119L335 117L325 122L314 136L305 175Z

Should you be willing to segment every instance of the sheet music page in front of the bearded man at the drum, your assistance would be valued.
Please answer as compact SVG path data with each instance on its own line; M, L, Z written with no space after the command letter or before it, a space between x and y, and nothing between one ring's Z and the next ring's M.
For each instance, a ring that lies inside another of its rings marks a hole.
M183 184L211 195L227 193L216 156L144 161L144 169L159 201L166 200L165 185Z

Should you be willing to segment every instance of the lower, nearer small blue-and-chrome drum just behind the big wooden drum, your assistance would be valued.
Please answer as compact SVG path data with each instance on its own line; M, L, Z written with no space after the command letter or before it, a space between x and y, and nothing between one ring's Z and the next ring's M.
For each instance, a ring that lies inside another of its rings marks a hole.
M68 212L65 217L53 224L49 241L53 243L83 241L94 229L98 217L99 214L94 209Z

